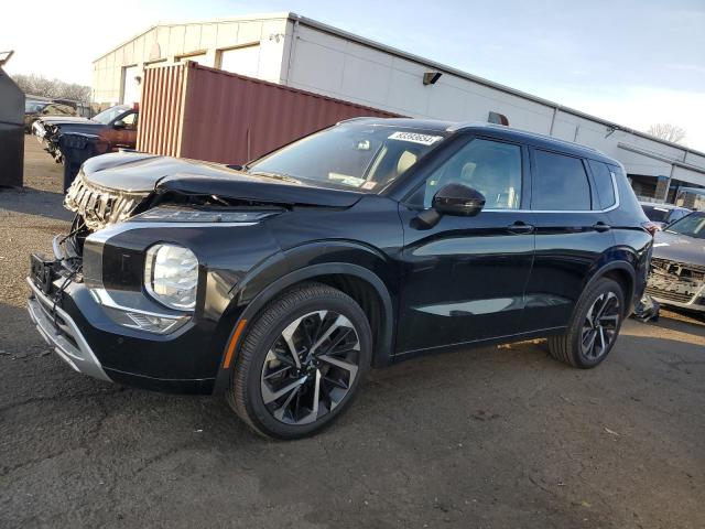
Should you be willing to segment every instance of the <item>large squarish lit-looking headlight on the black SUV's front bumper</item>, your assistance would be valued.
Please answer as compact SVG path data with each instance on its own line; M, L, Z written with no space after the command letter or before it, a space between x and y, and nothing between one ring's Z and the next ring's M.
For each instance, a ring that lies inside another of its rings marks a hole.
M147 250L144 288L160 303L177 311L196 306L198 259L188 248L154 245Z

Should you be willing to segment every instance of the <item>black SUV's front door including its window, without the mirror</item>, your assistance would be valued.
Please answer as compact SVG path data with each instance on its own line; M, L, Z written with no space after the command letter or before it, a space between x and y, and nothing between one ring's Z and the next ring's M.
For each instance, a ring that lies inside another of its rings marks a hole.
M524 150L525 152L525 150ZM412 353L521 332L534 252L532 214L521 210L522 148L475 138L426 179L400 215L404 226L398 352ZM414 201L431 205L448 183L486 198L475 217L445 215L430 229Z

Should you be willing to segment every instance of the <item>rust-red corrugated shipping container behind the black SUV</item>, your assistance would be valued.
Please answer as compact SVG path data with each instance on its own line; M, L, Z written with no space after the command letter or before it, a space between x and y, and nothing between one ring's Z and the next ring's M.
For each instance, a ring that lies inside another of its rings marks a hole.
M186 63L144 72L137 148L154 154L245 163L359 116L383 110Z

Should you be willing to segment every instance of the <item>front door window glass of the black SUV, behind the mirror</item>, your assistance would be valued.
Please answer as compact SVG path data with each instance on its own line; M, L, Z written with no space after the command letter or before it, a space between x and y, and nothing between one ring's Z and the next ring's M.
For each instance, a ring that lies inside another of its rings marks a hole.
M521 204L521 148L500 141L476 139L453 154L426 180L424 208L447 184L479 191L485 209L519 209Z

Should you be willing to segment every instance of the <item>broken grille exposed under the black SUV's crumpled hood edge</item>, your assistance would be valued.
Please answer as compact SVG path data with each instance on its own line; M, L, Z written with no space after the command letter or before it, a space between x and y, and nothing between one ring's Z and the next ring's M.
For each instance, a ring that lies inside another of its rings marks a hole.
M129 218L148 193L106 190L93 185L83 172L70 184L64 207L80 216L91 231Z

